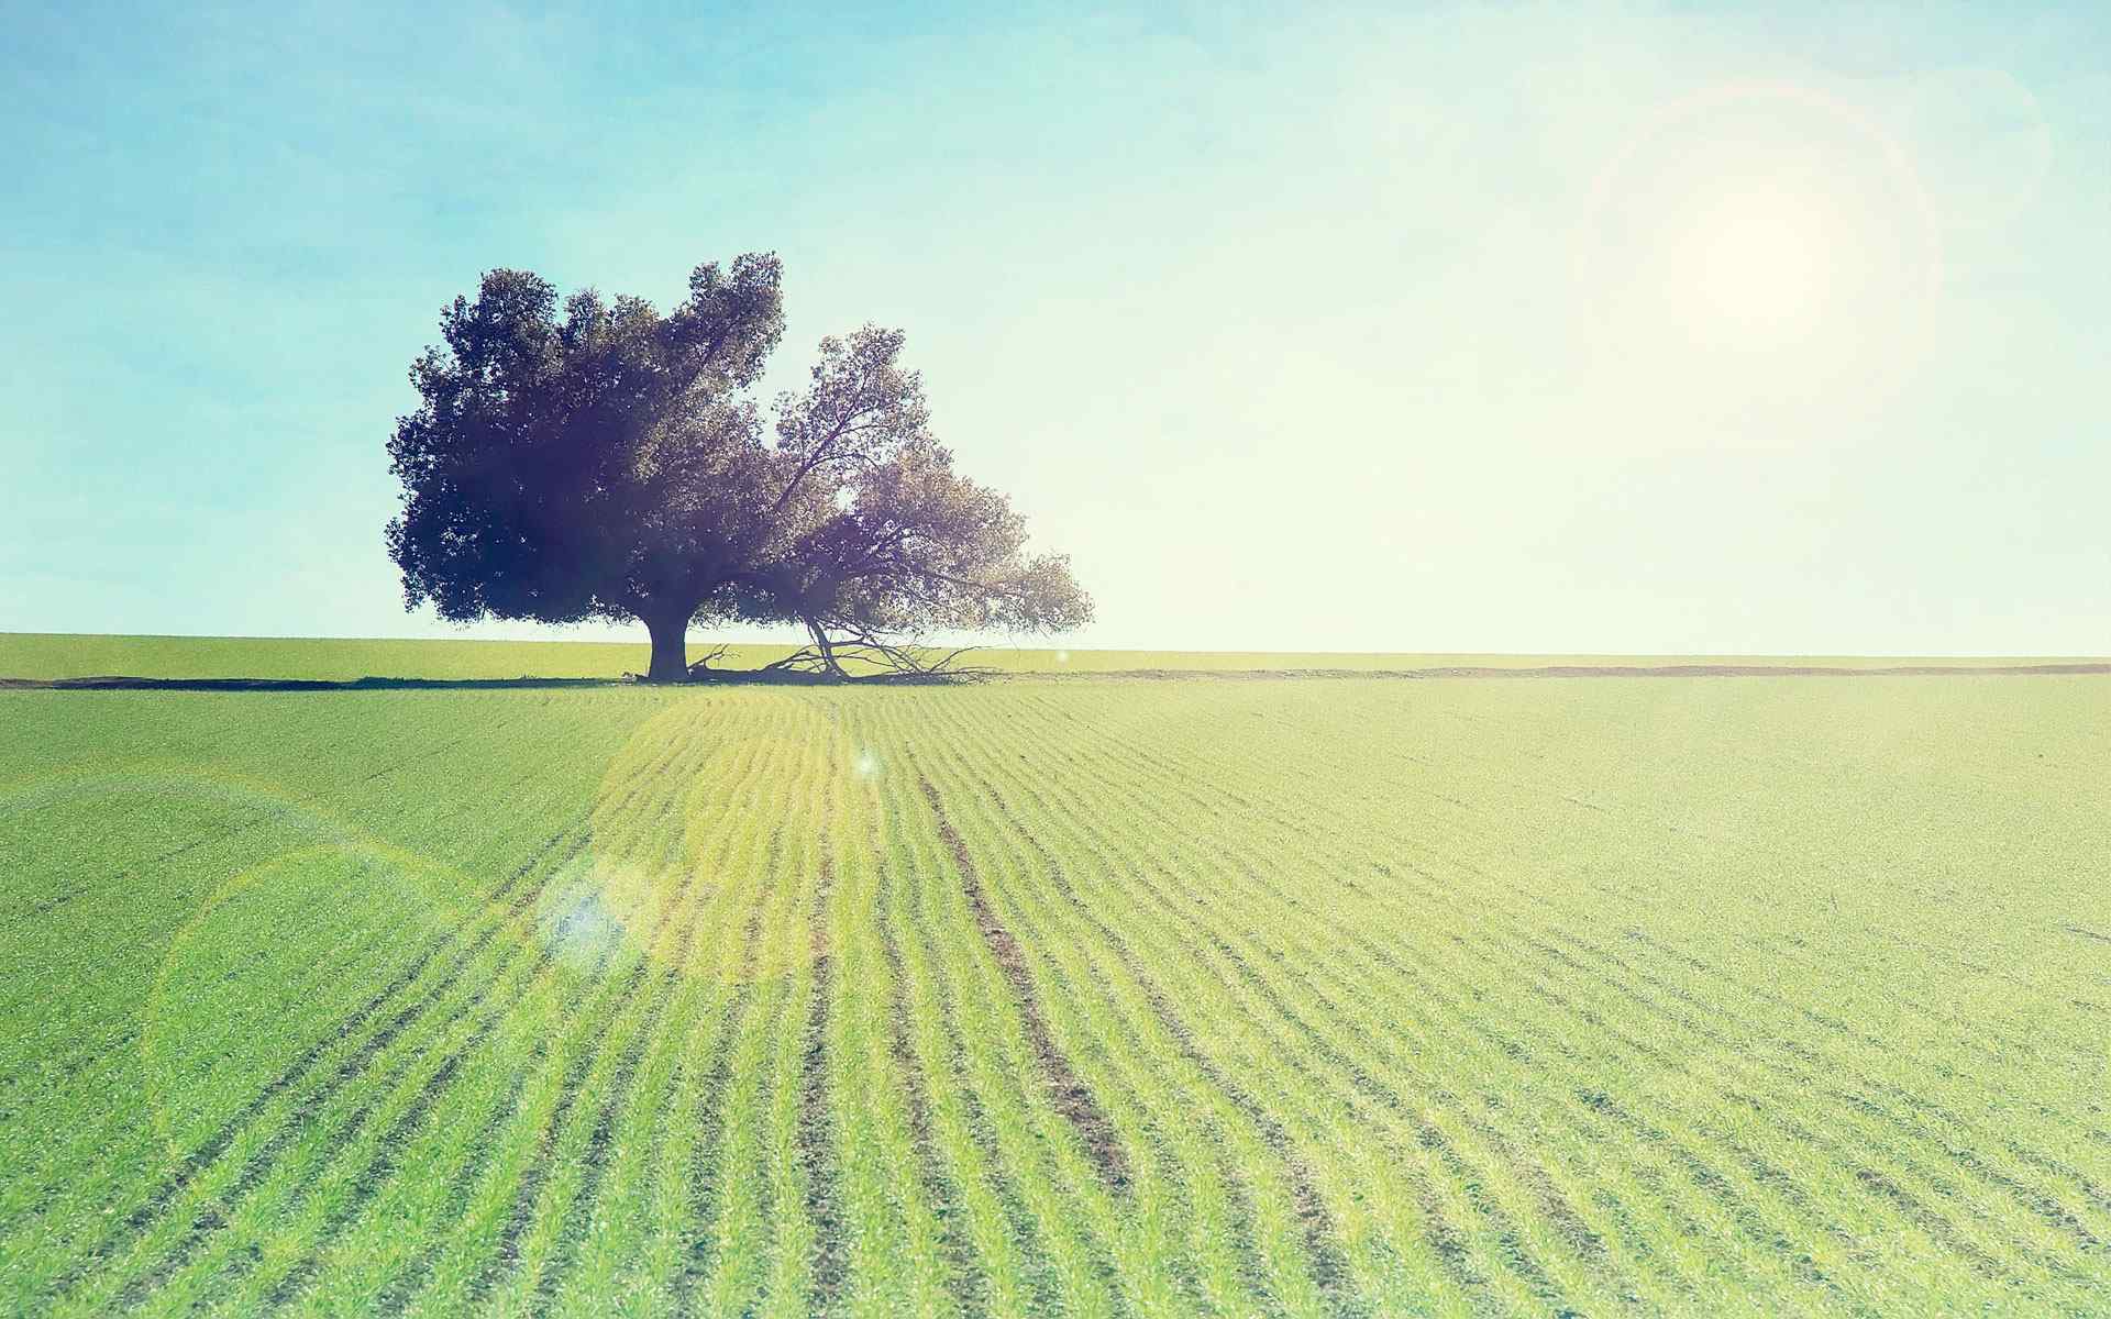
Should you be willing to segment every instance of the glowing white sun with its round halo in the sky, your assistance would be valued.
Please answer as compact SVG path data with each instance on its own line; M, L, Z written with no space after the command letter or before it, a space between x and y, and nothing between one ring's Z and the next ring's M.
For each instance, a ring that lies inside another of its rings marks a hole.
M1792 437L1910 369L1940 260L1896 139L1799 87L1666 106L1600 173L1577 247L1598 401L1668 435Z

